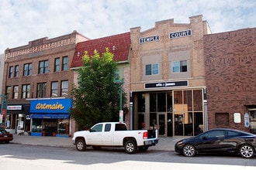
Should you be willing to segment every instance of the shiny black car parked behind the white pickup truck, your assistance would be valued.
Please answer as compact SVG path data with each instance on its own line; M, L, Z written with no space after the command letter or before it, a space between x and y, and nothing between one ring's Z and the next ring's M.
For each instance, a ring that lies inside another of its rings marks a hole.
M198 153L230 152L243 158L253 158L256 150L256 135L245 131L216 128L175 144L175 151L192 157Z

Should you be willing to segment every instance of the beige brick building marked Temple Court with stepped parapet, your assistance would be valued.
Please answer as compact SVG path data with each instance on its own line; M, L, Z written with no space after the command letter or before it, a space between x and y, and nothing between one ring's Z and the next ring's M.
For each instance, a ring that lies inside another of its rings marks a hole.
M206 128L203 36L210 29L202 15L189 21L168 19L144 32L130 29L134 128L157 128L164 136Z

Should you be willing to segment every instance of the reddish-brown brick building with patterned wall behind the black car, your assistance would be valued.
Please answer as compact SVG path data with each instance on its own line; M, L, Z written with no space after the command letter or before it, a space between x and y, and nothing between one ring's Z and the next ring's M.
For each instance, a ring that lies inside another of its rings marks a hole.
M256 28L204 36L208 124L256 133Z

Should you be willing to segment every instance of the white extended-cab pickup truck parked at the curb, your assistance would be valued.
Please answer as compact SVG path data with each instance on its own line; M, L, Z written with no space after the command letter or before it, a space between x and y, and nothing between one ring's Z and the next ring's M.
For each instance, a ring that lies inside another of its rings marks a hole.
M147 148L158 143L157 130L127 131L126 124L119 122L104 122L95 124L88 131L76 131L72 142L78 151L85 151L87 146L124 147L126 153L134 154L137 150L147 151Z

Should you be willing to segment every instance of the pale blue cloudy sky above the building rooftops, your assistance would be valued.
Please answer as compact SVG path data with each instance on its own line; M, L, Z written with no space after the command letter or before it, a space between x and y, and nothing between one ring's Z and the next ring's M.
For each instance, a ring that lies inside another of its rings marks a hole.
M203 15L213 33L256 27L255 0L2 0L0 54L33 39L77 30L89 39L154 27Z

